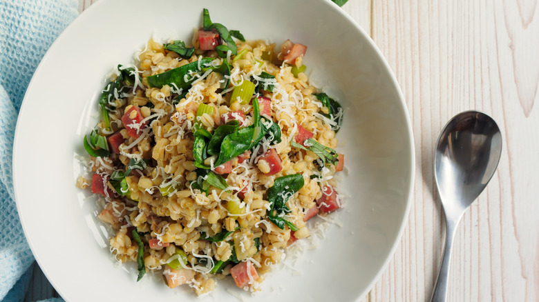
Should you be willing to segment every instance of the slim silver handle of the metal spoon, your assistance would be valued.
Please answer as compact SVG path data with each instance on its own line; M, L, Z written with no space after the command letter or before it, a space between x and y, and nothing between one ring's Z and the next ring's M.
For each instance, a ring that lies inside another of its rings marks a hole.
M453 248L453 239L460 219L451 221L446 215L446 245L444 248L444 257L442 265L439 268L438 278L433 292L431 302L444 302L447 299L447 281L449 268L451 267L451 250Z

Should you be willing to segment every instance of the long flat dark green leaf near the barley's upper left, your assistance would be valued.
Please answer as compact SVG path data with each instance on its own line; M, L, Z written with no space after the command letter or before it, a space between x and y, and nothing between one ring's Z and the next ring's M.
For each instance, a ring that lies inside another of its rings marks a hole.
M202 72L202 68L205 68L211 64L211 58L202 58L198 61L191 62L184 66L174 68L160 74L147 77L148 85L153 88L162 88L164 85L171 85L174 83L178 89L188 89L191 87L191 83L196 80L191 74L196 72ZM200 68L198 68L200 63ZM185 76L187 75L187 81Z

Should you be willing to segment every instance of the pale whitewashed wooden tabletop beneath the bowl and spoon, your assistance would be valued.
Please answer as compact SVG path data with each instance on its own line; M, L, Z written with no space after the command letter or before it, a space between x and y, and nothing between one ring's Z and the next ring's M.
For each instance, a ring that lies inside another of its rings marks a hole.
M81 12L95 2L79 1ZM446 121L469 109L494 117L504 147L498 171L457 230L448 301L539 301L537 4L349 0L343 6L397 75L417 161L404 236L362 302L430 299L444 245L433 148ZM28 301L55 295L39 268L35 276Z

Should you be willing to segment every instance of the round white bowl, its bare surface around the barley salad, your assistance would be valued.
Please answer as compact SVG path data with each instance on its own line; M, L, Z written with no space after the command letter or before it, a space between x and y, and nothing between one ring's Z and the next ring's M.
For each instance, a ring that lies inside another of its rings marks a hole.
M202 3L203 2L203 3ZM410 208L414 152L406 105L388 65L368 36L330 1L99 1L47 52L23 101L14 147L17 206L26 238L50 282L68 301L196 299L160 278L135 282L133 266L110 258L95 204L75 188L82 137L95 125L106 74L130 63L153 35L190 41L202 8L247 39L308 46L314 83L346 108L339 150L348 174L347 205L316 249L293 270L266 275L252 298L229 279L197 301L354 301L386 267ZM346 174L346 173L345 173ZM103 247L105 246L105 247ZM297 274L300 272L301 274ZM170 300L168 300L170 301Z

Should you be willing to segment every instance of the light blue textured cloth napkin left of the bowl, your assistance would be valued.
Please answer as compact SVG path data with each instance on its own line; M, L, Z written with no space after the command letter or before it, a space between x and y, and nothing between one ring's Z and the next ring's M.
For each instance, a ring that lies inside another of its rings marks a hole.
M77 0L0 0L0 300L22 301L34 256L13 194L17 114L39 61L77 17Z

